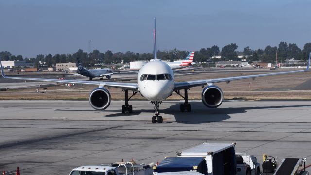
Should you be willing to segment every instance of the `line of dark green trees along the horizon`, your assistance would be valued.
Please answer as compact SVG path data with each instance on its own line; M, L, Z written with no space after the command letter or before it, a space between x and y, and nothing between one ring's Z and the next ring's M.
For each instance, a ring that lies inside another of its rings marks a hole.
M231 43L225 45L221 50L217 45L213 45L208 48L201 48L199 51L195 51L194 61L198 62L211 62L211 61L228 61L228 60L240 60L238 55L243 55L242 59L246 59L249 62L261 61L261 62L274 62L277 59L279 62L286 59L295 58L296 60L306 60L308 53L311 51L311 43L306 43L303 49L300 49L295 43L280 42L278 47L266 46L264 49L251 49L249 46L245 47L243 51L237 51L238 45ZM173 50L157 51L158 59L162 60L179 60L184 59L189 54L189 51L180 51L176 48ZM220 56L221 58L215 58ZM42 55L39 54L35 58L23 58L22 55L12 55L8 51L0 52L0 57L4 61L25 60L26 62L33 63L35 67L44 64L48 67L55 65L56 63L77 62L79 59L85 66L95 66L95 64L111 64L111 63L129 63L131 61L139 60L151 60L153 59L152 53L134 53L131 51L112 53L107 50L105 53L99 50L93 50L90 53L84 52L79 49L73 54L55 54L55 55Z

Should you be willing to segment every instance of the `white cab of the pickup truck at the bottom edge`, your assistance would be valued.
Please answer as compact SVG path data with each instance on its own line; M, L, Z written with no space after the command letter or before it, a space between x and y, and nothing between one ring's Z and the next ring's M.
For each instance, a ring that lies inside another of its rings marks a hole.
M69 175L119 175L119 172L116 167L86 165L74 168Z

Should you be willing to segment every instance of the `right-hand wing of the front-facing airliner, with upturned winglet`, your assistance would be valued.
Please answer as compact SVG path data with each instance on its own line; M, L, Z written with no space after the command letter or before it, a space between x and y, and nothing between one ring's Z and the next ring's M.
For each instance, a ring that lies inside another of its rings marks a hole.
M246 78L257 78L257 77L272 76L272 75L283 75L283 74L290 74L290 73L306 72L309 70L309 66L310 66L310 55L311 55L311 52L309 53L308 65L305 70L295 70L295 71L266 73L266 74L258 74L258 75L245 75L245 76L236 76L236 77L227 77L227 78L215 78L215 79L206 79L206 80L175 82L174 90L180 90L180 89L191 88L191 87L202 86L202 85L213 84L213 83L230 82L232 80L241 80L241 79L246 79Z

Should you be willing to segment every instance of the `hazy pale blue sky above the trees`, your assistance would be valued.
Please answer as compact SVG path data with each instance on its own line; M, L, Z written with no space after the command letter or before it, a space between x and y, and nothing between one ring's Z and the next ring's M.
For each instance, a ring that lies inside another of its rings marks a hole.
M311 42L309 0L0 0L0 51L24 57Z

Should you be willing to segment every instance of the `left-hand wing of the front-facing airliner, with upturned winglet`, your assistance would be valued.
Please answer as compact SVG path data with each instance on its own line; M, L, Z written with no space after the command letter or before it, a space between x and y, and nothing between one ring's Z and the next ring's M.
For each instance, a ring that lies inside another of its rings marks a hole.
M121 88L121 89L126 89L126 90L138 91L137 83L11 77L11 76L6 76L4 74L1 60L0 60L0 66L1 66L0 68L1 68L1 73L2 73L3 78L17 79L17 80L49 81L49 82L58 82L58 83L77 83L77 84L97 85L97 86L103 86L103 87L105 86L105 87L113 87L113 88Z

